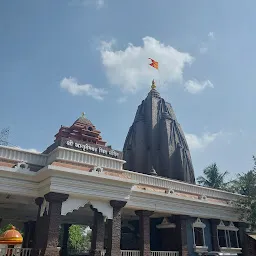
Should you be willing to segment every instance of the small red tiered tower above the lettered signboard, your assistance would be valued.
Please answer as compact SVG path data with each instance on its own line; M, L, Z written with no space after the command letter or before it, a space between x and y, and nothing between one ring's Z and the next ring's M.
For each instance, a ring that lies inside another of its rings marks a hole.
M72 139L75 141L84 141L90 144L96 144L100 146L105 146L106 141L102 140L100 136L100 131L92 124L92 122L87 119L82 113L70 127L61 126L59 132L55 135L55 141L61 138Z

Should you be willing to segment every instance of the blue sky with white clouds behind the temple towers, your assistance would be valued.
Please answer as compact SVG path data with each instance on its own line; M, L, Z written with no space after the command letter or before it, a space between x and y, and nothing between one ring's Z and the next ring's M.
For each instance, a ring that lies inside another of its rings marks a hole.
M255 153L255 1L0 1L0 129L44 150L81 112L122 149L153 78L196 175ZM159 72L147 58L159 61Z

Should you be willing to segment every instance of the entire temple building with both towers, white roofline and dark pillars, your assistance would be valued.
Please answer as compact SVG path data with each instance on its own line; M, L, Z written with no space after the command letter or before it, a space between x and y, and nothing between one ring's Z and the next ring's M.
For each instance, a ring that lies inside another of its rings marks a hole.
M0 244L0 256L70 255L72 224L92 228L91 256L255 256L241 196L195 184L182 128L154 82L122 152L98 129L82 114L43 153L0 146L0 227L24 231L22 246Z

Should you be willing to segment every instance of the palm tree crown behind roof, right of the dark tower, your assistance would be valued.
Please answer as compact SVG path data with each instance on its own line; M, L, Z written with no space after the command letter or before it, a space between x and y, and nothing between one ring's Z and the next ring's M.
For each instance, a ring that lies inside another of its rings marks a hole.
M228 172L221 173L216 163L206 167L203 173L205 177L199 176L197 178L198 184L216 189L225 189L227 187L228 183L225 183L224 180Z

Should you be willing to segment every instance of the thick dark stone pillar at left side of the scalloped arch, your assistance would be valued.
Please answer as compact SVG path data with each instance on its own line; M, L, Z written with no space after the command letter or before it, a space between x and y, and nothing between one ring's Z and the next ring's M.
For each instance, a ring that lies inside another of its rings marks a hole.
M49 202L46 222L46 242L43 248L43 254L45 256L59 256L58 242L61 224L61 207L62 202L66 201L68 196L67 194L55 192L50 192L44 196L45 200Z

